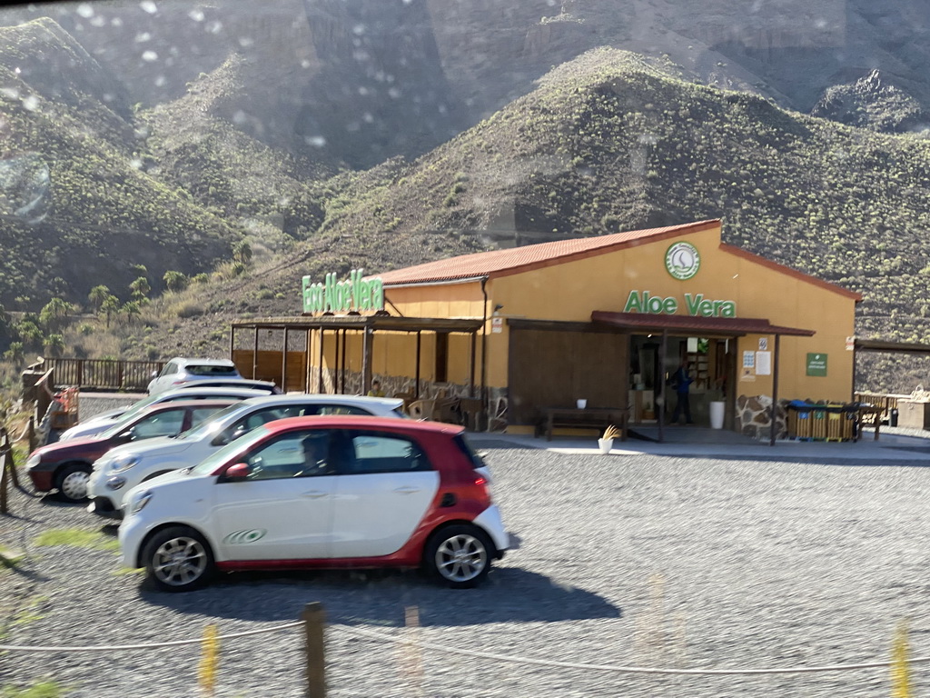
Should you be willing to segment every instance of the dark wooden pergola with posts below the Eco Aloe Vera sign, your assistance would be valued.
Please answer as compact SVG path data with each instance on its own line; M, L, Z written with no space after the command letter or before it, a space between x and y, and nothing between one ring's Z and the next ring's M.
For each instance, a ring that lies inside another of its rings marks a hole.
M319 377L316 386L316 392L324 392L323 381L323 362L326 334L333 338L335 356L337 357L337 369L342 374L341 384L345 386L345 361L346 361L346 335L348 332L362 334L362 383L363 392L367 393L371 388L372 379L372 356L374 352L375 333L379 331L389 332L406 332L417 335L417 357L416 357L416 375L415 392L419 397L420 388L420 337L423 332L434 333L458 333L468 334L471 336L470 349L470 370L469 370L469 388L470 395L474 396L475 390L475 356L477 335L482 331L484 321L480 318L445 318L445 317L402 317L398 315L387 315L386 313L376 315L318 315L318 316L286 316L286 317L265 317L249 320L236 320L232 324L230 332L230 356L236 346L238 333L248 331L252 333L253 342L253 376L257 370L259 356L259 333L264 330L284 330L284 341L281 345L281 382L285 388L287 381L287 342L291 333L304 333L306 337L306 359L307 373L304 376L304 389L310 392L310 367L312 366L311 351L311 332L320 333L320 342L317 347L318 356L316 356L316 366L319 370ZM341 350L341 355L340 355ZM339 374L338 374L339 375ZM339 381L337 381L339 385ZM484 386L482 386L484 388ZM285 388L286 389L286 388Z

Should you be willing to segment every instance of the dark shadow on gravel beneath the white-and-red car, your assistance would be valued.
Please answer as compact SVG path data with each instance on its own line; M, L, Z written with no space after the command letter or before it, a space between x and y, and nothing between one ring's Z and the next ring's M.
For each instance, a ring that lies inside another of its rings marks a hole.
M475 589L448 589L416 571L238 572L186 594L140 589L153 606L243 621L293 621L319 601L332 623L403 626L419 609L424 626L551 623L619 618L622 610L590 591L518 568L492 570Z

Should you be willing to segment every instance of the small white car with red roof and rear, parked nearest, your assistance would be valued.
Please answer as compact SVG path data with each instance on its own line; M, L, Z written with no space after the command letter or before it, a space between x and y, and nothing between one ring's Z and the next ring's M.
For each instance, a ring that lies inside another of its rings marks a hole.
M460 426L379 417L265 424L126 496L123 562L167 591L217 570L419 568L480 583L511 546Z

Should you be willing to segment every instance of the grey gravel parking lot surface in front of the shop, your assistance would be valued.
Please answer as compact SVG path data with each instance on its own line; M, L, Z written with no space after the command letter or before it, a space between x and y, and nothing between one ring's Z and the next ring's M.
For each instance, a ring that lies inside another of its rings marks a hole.
M751 462L492 449L494 493L523 547L485 586L452 591L415 573L239 574L192 594L140 589L113 551L38 547L50 529L101 530L81 507L17 493L0 571L17 645L196 638L296 620L321 601L329 695L887 696L887 669L797 676L658 677L399 649L357 629L471 651L585 664L792 667L882 661L910 619L930 654L930 471L905 464ZM109 530L106 535L113 535ZM223 644L217 694L303 694L300 630ZM196 647L96 654L0 653L0 684L53 678L73 696L198 695ZM930 690L914 666L917 694Z

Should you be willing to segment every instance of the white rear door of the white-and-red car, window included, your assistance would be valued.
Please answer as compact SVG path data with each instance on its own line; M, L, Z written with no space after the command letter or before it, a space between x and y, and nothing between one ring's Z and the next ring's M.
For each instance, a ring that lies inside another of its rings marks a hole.
M410 437L334 432L339 484L333 506L333 557L380 557L401 548L439 489L439 473Z

